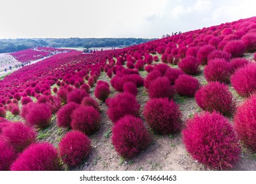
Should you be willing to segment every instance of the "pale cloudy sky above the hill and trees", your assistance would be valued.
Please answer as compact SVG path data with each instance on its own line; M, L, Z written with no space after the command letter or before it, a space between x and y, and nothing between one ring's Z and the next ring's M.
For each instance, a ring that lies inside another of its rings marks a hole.
M256 16L252 0L0 0L0 38L143 37Z

